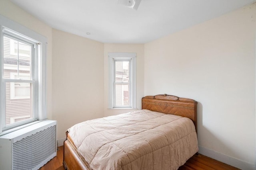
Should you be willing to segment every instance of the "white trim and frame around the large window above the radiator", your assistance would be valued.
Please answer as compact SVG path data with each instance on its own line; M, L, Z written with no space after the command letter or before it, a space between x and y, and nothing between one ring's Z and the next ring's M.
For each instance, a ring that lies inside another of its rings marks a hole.
M0 15L0 90L3 92L6 88L6 82L3 82L2 77L4 76L3 67L4 67L4 58L3 58L3 28L6 27L8 29L13 30L12 34L22 34L24 35L24 38L27 39L28 37L30 39L33 39L35 42L40 43L38 48L38 53L40 53L41 57L37 59L38 64L38 72L36 72L36 76L38 78L38 84L37 84L37 107L36 107L36 113L37 113L37 119L43 120L47 118L46 113L46 45L47 45L47 39L46 37L24 27L23 25L20 25L12 20L9 20L8 18ZM0 135L4 134L2 132L3 130L3 121L5 121L5 101L6 96L0 95ZM35 120L32 120L35 121ZM30 123L30 121L24 122ZM20 124L21 127L24 127L24 124ZM17 129L19 125L14 127L13 129ZM12 130L8 130L10 132Z

